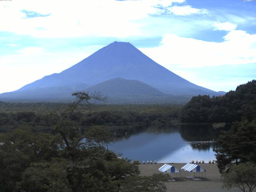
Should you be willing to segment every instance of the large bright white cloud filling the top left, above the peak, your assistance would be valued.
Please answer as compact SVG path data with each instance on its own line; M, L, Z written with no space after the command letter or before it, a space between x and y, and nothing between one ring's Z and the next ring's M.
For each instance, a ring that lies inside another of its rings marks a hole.
M127 37L141 35L143 24L135 21L161 13L160 7L184 0L22 0L1 2L0 31L43 38L79 36ZM26 18L24 11L46 17ZM8 19L7 19L8 18Z

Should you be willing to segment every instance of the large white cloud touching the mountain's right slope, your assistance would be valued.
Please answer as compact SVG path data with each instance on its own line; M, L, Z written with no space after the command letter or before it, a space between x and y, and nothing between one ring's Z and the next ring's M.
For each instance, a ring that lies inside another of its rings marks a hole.
M226 64L256 63L256 34L233 30L224 36L223 42L206 42L166 34L162 44L140 50L150 58L172 70L172 65L196 68Z

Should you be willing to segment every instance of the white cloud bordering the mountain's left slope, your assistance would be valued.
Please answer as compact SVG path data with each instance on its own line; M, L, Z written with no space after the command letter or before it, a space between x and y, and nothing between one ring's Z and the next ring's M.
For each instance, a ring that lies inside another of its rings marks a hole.
M88 46L61 52L27 47L16 54L0 56L0 93L17 90L46 75L59 73L102 46Z

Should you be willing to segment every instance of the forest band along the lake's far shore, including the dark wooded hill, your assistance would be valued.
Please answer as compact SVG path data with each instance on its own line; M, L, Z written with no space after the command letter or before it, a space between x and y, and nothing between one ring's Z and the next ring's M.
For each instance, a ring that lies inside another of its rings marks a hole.
M47 131L54 125L52 114L67 112L67 103L9 103L0 102L0 130L2 132L22 125ZM195 96L185 105L111 105L81 106L70 118L82 129L101 126L150 126L177 123L228 123L256 116L256 81L242 84L223 96Z

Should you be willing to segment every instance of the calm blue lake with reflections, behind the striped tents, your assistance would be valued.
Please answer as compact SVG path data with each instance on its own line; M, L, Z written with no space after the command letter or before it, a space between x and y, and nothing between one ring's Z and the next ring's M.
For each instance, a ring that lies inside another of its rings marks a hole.
M208 162L216 159L213 149L219 147L219 130L206 125L120 129L117 133L120 140L109 148L124 158L141 162Z

